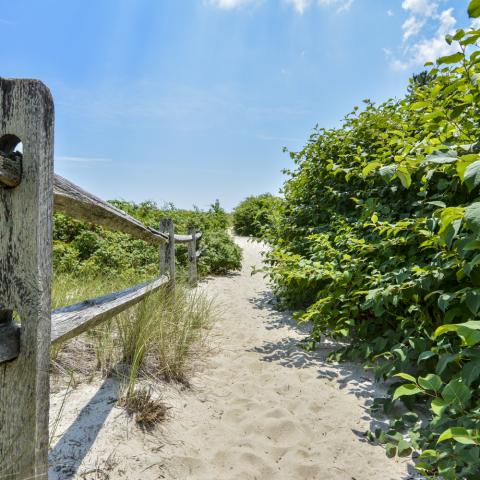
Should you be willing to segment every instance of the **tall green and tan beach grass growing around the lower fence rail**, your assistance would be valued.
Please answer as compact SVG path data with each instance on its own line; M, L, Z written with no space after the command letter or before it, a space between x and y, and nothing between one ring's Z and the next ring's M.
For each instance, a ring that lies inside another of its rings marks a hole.
M131 286L143 279L72 278L57 276L53 284L53 307ZM188 383L197 361L205 352L209 326L216 316L212 299L200 289L178 283L175 290L163 287L142 302L100 327L55 347L54 371L62 377L98 372L117 375L125 382L122 403L153 408L151 385L159 379ZM139 385L140 384L140 385ZM148 387L145 385L148 384ZM159 416L164 411L158 410ZM151 415L140 415L150 418Z

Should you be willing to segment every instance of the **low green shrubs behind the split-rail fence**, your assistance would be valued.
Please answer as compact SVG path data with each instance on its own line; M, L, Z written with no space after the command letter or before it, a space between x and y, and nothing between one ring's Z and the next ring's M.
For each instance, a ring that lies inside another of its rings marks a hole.
M218 202L206 212L180 210L173 206L160 209L153 202L138 205L125 201L112 203L149 227L158 228L160 219L168 217L173 218L176 233L187 233L190 225L204 232L198 265L203 275L238 270L241 266L240 248L226 233L228 217ZM187 247L178 245L176 256L179 267L184 266ZM146 278L158 274L159 266L158 247L61 214L55 215L53 259L56 273L82 276L121 274Z

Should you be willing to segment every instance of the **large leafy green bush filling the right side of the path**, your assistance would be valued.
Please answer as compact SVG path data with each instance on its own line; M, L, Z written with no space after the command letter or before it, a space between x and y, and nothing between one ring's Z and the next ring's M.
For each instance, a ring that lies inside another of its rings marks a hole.
M480 478L479 38L447 37L458 53L401 101L317 129L265 235L279 297L313 323L307 346L347 340L335 358L392 379L375 407L408 407L370 438L446 480Z

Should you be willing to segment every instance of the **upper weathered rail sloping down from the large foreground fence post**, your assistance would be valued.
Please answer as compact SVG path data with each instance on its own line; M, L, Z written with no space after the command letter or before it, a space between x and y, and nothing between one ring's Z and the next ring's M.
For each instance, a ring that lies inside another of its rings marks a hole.
M161 232L146 227L128 213L86 192L60 175L55 175L54 179L54 202L55 211L79 220L128 233L156 245L168 241Z

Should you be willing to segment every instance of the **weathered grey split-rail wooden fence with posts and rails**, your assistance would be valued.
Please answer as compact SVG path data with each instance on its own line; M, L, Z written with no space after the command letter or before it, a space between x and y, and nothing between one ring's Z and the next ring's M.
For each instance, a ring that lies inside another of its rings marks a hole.
M175 287L175 244L188 245L197 282L192 227L176 235L171 219L155 230L53 173L53 100L35 80L0 78L0 479L46 479L50 345L73 338ZM11 155L19 143L22 155ZM155 280L51 312L53 211L159 246ZM15 321L14 318L19 319Z

